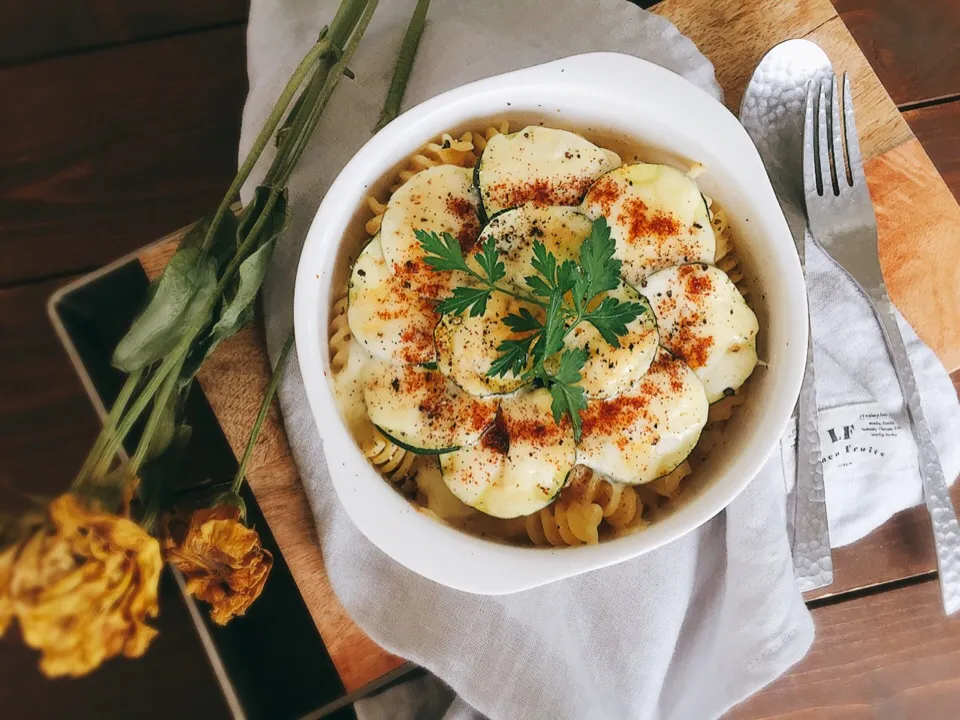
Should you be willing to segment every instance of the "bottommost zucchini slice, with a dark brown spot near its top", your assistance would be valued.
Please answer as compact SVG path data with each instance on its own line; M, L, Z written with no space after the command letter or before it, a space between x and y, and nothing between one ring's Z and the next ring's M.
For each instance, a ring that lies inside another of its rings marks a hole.
M570 423L557 425L550 392L506 397L476 445L440 456L443 481L472 508L499 518L529 515L563 488L576 462Z

